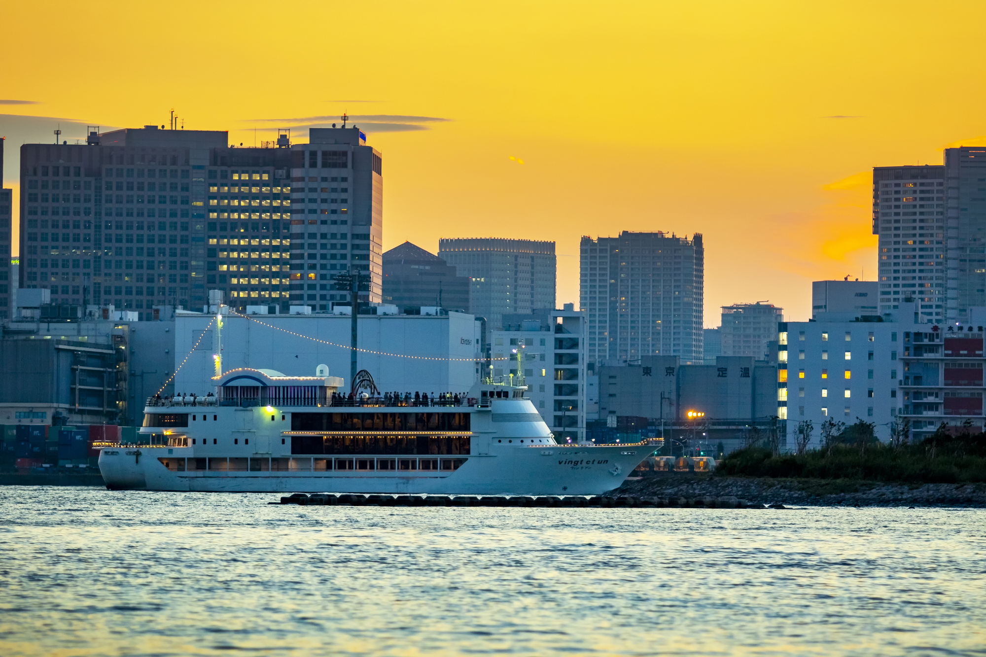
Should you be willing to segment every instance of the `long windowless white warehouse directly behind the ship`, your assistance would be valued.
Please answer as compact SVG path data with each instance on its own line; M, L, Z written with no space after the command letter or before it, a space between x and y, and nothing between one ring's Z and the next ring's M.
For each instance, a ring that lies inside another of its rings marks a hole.
M175 314L178 393L204 395L215 386L218 336L215 324L209 327L214 317ZM360 315L358 327L358 347L367 350L359 353L358 368L373 375L382 393L463 393L477 381L481 326L472 315ZM343 378L348 392L350 337L349 315L227 315L222 327L223 371L271 369L314 376L317 365L325 364L331 376Z

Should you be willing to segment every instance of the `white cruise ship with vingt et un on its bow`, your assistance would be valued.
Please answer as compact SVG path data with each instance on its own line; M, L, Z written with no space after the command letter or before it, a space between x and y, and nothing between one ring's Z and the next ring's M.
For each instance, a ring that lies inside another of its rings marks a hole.
M324 366L314 377L237 369L216 383L205 397L149 400L140 444L101 451L106 486L594 495L650 454L643 444L559 444L523 380L417 400L340 395L342 379Z

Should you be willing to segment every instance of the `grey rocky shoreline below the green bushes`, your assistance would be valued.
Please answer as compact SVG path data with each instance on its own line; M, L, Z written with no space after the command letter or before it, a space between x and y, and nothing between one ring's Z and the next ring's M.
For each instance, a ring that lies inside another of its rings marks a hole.
M884 483L855 479L753 478L691 474L626 480L609 496L734 497L760 504L810 506L986 507L983 483Z

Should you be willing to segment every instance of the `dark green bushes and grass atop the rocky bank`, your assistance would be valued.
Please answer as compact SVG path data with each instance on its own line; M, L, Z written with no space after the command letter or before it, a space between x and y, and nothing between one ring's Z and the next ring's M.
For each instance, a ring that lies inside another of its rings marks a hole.
M821 427L822 447L817 450L806 449L812 427L801 422L796 454L779 454L763 441L730 454L719 462L716 474L913 483L986 481L986 433L943 424L931 437L911 444L910 427L901 420L890 427L890 444L883 444L873 423L857 420L850 426L826 420Z

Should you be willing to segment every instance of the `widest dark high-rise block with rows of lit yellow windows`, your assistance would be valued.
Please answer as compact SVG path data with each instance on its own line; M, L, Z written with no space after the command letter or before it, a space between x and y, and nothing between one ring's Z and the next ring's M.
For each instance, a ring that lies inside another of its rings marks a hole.
M232 148L217 130L126 128L21 147L21 287L53 304L330 310L333 271L383 276L382 161L358 128ZM57 217L57 218L55 218Z

